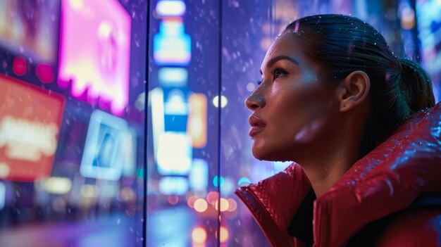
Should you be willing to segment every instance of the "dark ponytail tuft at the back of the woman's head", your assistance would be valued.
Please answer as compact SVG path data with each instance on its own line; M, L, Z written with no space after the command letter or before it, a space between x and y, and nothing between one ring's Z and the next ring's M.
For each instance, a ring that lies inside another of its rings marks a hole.
M435 106L432 82L426 70L406 58L399 60L402 67L399 88L402 90L410 114Z

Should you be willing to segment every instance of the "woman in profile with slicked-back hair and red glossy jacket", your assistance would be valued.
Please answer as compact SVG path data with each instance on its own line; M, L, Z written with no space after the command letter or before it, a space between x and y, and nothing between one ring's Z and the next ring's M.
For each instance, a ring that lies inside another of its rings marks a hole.
M261 75L252 153L294 163L236 194L272 246L441 246L441 106L419 65L357 18L313 15Z

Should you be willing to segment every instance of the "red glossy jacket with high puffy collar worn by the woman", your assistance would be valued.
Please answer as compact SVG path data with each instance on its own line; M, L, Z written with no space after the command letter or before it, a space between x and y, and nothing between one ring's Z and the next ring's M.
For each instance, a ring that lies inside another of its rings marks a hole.
M310 190L302 167L293 163L235 194L272 246L303 246L288 227ZM441 194L440 103L404 123L313 202L313 246L345 246L368 222L407 208L424 192ZM441 246L439 205L400 215L377 246Z

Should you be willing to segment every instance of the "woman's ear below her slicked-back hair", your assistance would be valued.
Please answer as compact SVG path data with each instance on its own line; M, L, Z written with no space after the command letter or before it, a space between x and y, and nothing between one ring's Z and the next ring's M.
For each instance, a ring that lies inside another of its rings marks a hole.
M337 89L340 99L340 111L351 110L363 103L371 89L371 80L366 72L356 70L350 73Z

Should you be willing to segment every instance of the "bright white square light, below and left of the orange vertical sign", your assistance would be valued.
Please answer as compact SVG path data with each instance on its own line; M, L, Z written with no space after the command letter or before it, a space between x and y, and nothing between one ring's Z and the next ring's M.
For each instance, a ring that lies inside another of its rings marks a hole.
M185 132L163 132L159 137L158 172L187 175L192 165L192 144Z

